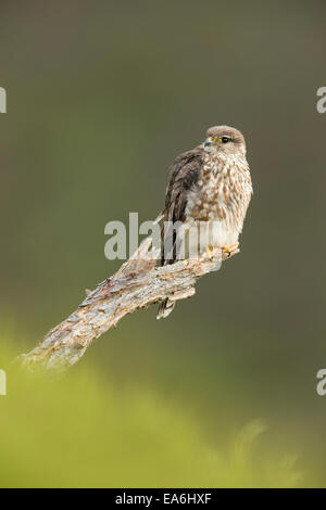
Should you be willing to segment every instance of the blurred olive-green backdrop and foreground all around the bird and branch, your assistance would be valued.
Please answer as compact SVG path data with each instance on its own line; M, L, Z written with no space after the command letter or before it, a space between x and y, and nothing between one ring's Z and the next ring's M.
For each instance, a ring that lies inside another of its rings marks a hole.
M316 0L1 2L0 368L118 267L104 225L154 218L168 166L209 126L242 130L254 186L240 255L168 319L125 318L51 388L9 373L1 486L325 486L325 14ZM247 457L204 460L243 430L265 448L250 480ZM301 476L283 476L293 456Z

